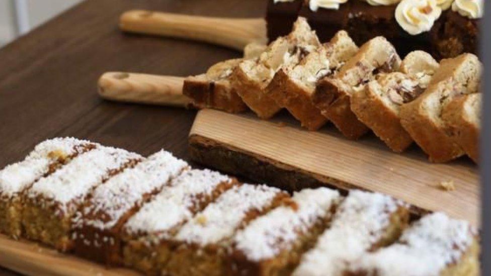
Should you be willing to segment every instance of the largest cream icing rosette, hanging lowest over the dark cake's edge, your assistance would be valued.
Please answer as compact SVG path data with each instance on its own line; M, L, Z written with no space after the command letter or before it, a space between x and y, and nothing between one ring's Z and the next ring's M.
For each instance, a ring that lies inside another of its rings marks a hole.
M442 14L436 0L402 0L395 9L395 20L411 35L427 32Z

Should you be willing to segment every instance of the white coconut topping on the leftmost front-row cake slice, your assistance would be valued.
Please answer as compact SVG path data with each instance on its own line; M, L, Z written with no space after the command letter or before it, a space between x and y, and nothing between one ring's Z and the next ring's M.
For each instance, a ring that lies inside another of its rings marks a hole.
M0 171L0 195L11 198L21 193L46 174L58 158L76 154L77 146L89 143L75 138L54 138L39 143L23 161Z

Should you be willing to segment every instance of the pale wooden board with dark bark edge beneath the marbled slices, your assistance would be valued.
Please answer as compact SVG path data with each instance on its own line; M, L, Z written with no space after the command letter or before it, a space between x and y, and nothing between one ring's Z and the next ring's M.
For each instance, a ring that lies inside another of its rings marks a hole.
M189 136L192 158L228 173L289 190L330 186L382 192L416 213L444 211L479 226L477 166L460 158L434 164L414 146L391 152L377 137L351 141L332 126L309 132L288 114L272 121L253 114L201 110ZM454 191L441 187L453 182Z

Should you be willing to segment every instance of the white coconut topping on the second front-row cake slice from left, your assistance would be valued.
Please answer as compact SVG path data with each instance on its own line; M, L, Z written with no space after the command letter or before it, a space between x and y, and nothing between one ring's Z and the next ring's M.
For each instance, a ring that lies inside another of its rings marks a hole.
M39 179L28 191L28 197L61 204L81 200L92 188L109 177L111 170L142 157L123 149L100 146L74 158L70 163L54 173Z

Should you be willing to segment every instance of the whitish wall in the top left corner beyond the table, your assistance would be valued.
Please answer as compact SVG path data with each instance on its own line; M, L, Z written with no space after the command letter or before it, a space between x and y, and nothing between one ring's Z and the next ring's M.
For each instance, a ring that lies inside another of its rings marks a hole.
M16 6L20 7L17 12L25 16L25 27L31 30L78 2L81 0L0 0L0 47L15 39L22 29Z

